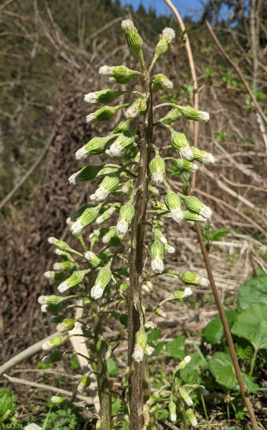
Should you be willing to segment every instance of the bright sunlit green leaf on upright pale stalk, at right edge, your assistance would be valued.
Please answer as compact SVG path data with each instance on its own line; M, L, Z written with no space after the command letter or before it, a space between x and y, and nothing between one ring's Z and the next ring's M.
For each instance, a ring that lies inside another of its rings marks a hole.
M265 304L252 304L243 310L232 327L232 333L249 341L255 350L267 350L267 311Z

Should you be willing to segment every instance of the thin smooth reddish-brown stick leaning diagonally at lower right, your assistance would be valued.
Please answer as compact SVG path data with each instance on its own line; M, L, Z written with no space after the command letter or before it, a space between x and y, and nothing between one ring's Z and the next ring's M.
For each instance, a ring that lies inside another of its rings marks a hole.
M212 288L212 292L213 292L213 295L214 295L214 298L215 298L215 302L216 302L216 305L217 305L220 317L221 317L221 322L222 322L222 325L224 327L224 332L225 332L227 344L228 344L228 347L230 349L230 354L231 354L231 357L232 357L232 360L233 360L233 367L235 369L236 379L238 381L242 397L243 397L244 402L246 404L246 407L248 409L253 430L258 430L258 423L257 423L256 417L255 417L255 414L254 414L254 410L252 408L251 401L250 401L250 399L249 399L249 397L248 397L248 395L246 393L246 387L245 387L244 381L242 379L241 371L240 371L239 364L238 364L238 361L237 361L236 351L235 351L235 347L234 347L234 344L233 344L232 335L231 335L231 332L230 332L230 329L229 329L229 326L228 326L228 323L227 323L227 319L226 319L225 314L224 314L224 308L222 307L221 300L220 300L220 297L218 295L218 291L217 291L217 288L215 286L215 282L214 282L214 279L213 279L213 276L212 276L212 270L211 270L211 267L210 267L210 264L209 264L208 252L206 250L206 246L205 246L205 243L203 241L203 237L202 237L202 233L201 233L200 227L199 227L199 225L197 223L195 223L195 226L196 226L196 233L197 233L198 240L199 240L199 243L200 243L201 251L202 251L202 254L203 254L204 261L205 261L206 269L207 269L207 272L208 272L209 282L210 282L210 285L211 285L211 288Z

